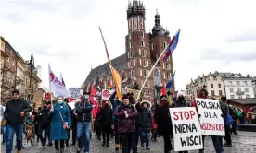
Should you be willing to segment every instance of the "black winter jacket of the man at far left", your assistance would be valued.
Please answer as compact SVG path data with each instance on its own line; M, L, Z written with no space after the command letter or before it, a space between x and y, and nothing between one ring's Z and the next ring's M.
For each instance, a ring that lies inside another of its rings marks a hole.
M4 116L6 118L7 124L23 124L24 117L20 116L20 112L31 112L32 107L29 102L18 99L18 100L9 100L6 103L6 110Z

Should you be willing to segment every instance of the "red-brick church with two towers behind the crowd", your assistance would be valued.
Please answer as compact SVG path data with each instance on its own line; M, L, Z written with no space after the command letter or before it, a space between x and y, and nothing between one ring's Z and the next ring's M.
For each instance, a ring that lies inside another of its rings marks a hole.
M137 84L139 87L142 86L151 67L171 39L169 31L160 25L160 15L158 13L155 15L155 25L152 32L146 33L145 20L143 3L136 0L130 2L127 9L128 35L125 37L125 53L112 59L112 65L120 73L122 82L132 80L132 84ZM173 76L172 56L166 62L162 58L160 59L144 88L144 96L146 97L154 96L154 73L160 73L163 84L169 82ZM91 72L83 82L83 89L89 90L97 79L101 88L107 88L108 81L113 82L108 63L91 69ZM173 95L174 91L173 82Z

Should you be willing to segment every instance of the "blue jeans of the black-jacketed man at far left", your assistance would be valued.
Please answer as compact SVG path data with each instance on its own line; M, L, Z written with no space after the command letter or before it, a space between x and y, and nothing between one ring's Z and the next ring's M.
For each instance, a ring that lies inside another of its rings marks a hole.
M6 125L7 142L6 142L6 153L11 153L13 148L13 136L16 133L17 149L18 151L22 148L22 133L23 124L7 124Z

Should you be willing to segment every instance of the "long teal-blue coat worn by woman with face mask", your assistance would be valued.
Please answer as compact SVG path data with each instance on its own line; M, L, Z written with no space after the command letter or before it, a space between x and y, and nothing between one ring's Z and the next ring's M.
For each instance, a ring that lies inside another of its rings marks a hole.
M63 103L54 105L54 112L49 112L50 117L52 117L52 126L51 126L51 140L67 140L68 133L67 130L63 128L63 122L60 114L64 122L67 122L69 125L71 124L71 116L69 107Z

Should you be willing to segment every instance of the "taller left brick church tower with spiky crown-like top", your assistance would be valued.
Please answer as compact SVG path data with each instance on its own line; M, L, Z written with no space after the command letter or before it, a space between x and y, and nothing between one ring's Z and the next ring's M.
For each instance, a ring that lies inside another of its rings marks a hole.
M149 36L145 32L145 7L141 1L129 2L127 21L128 35L125 38L127 74L128 77L136 78L136 83L141 87L151 67ZM148 79L145 91L147 88L152 88L150 82L152 78Z

